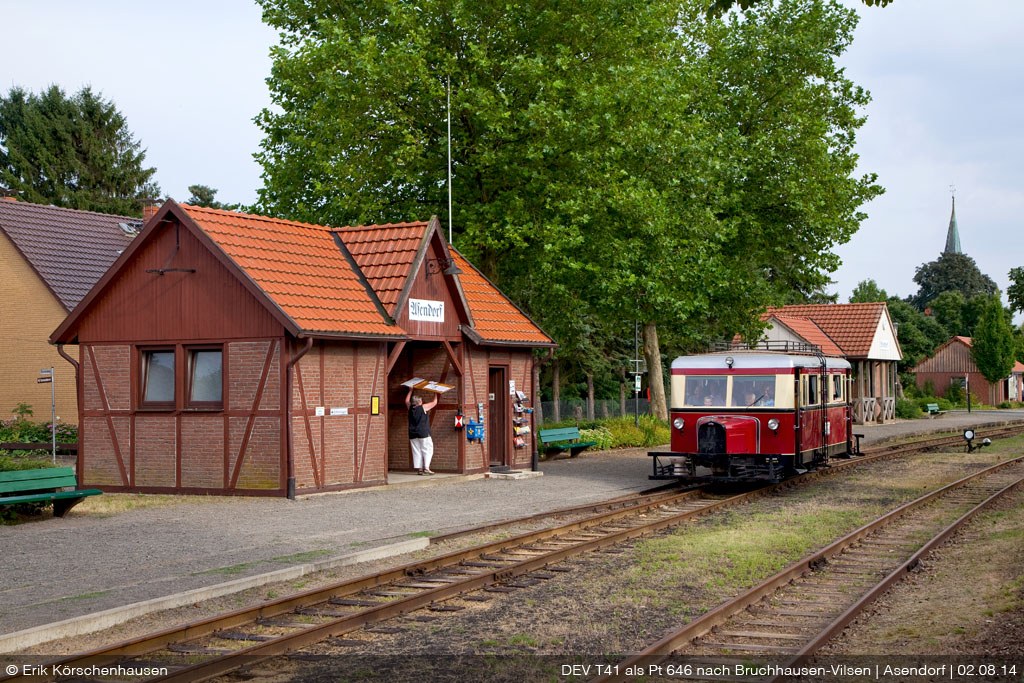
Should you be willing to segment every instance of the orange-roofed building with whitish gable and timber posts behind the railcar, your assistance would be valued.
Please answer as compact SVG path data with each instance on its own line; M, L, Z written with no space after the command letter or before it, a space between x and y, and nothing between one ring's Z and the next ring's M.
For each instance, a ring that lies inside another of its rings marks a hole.
M903 358L889 306L878 303L806 304L769 308L769 341L805 342L853 366L857 423L896 417L896 364Z

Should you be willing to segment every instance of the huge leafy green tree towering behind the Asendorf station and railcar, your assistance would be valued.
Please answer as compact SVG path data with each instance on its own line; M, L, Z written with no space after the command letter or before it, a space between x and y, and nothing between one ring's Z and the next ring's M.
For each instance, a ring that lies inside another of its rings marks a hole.
M881 191L854 176L867 95L836 65L856 16L835 2L260 2L282 33L260 209L452 218L563 353L640 321L662 417L655 339L754 335L759 309L827 282Z

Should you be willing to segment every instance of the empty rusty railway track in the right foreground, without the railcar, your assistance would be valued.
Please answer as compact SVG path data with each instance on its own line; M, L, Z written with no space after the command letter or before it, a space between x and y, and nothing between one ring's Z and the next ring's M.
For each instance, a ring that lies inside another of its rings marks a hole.
M625 672L654 671L669 656L684 663L675 669L676 679L709 680L700 672L721 672L723 664L725 671L735 672L736 665L751 657L795 669L956 529L1021 484L1024 457L922 496L665 636L591 683L632 680L635 676ZM955 517L951 523L950 516Z

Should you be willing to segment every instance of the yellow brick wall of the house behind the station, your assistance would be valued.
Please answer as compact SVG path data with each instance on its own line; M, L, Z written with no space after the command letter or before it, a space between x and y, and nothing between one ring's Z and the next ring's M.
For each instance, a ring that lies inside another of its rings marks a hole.
M67 315L36 271L0 232L0 420L18 402L32 407L34 422L50 421L50 385L38 384L41 368L53 367L57 415L78 422L75 369L47 341ZM76 347L69 355L78 356Z

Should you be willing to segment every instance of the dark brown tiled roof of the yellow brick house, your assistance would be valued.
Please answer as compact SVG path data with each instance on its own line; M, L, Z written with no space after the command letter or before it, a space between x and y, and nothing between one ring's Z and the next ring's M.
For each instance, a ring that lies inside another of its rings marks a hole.
M131 231L126 231L125 224ZM138 218L29 202L0 201L0 232L67 310L72 310L131 244Z

